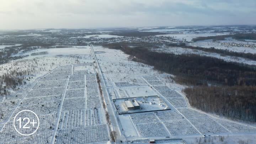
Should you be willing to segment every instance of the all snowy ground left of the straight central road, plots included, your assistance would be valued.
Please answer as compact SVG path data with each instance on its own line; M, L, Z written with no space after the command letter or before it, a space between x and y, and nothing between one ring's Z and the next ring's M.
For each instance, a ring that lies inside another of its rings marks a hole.
M33 79L21 86L20 90L1 99L0 105L4 107L0 110L0 143L109 142L109 128L102 108L91 50L43 50L49 54L1 65L16 70L31 68ZM4 69L1 73L8 71ZM30 136L18 134L12 126L16 113L25 109L34 111L40 121L39 129Z

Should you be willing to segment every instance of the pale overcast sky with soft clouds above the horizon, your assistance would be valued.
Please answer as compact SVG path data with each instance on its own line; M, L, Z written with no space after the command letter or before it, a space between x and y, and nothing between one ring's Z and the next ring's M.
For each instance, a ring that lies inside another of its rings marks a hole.
M256 0L0 0L0 29L256 25Z

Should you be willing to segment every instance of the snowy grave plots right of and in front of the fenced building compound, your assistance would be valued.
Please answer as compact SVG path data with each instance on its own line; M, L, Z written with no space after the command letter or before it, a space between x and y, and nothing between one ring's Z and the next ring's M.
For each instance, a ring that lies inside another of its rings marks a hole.
M170 136L194 135L194 134L227 134L227 133L255 133L256 128L245 124L213 118L202 112L188 108L185 99L175 90L161 84L156 76L144 76L150 85L153 85L162 96L166 98L177 111L158 111L144 114L130 114L135 129L142 137L159 136L167 132ZM158 119L156 119L156 117ZM151 125L151 127L150 127ZM165 128L165 129L164 129Z

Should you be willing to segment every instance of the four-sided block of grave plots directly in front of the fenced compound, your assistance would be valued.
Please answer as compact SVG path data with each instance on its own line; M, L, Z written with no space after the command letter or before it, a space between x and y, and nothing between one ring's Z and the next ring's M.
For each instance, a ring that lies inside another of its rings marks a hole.
M129 114L141 137L197 134L198 131L175 110Z

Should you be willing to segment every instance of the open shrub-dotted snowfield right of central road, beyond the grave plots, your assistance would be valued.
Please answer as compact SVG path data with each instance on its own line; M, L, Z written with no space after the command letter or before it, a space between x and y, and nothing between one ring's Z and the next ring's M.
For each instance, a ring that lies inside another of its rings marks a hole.
M94 46L95 51L105 51L97 53L98 62L101 66L104 79L109 85L113 82L130 82L130 85L146 85L141 76L166 75L160 71L153 70L152 66L128 61L128 55L120 50L107 49L101 46Z

